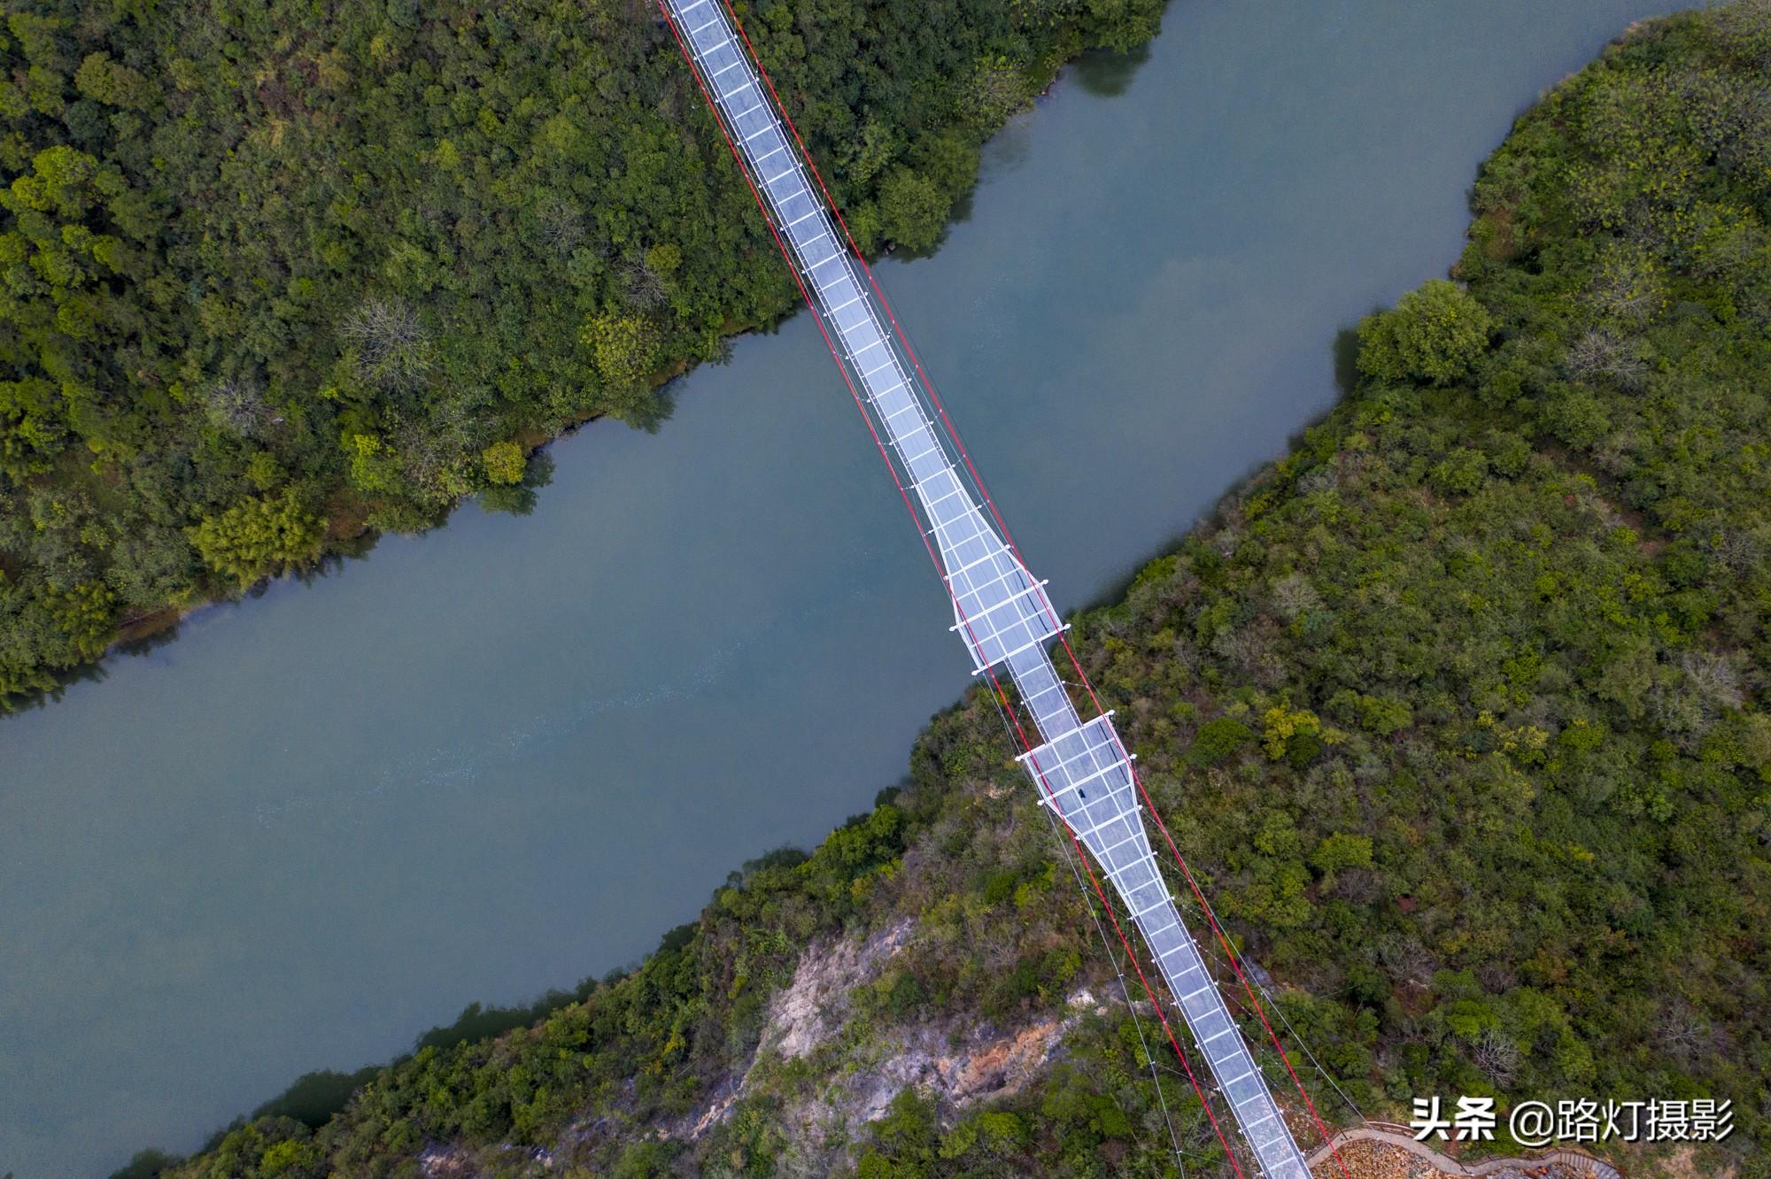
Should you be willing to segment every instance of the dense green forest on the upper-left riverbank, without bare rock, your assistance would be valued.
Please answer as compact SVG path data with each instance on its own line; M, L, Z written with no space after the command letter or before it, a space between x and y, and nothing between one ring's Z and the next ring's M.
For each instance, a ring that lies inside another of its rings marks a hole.
M868 250L1156 0L747 5ZM650 425L793 285L650 4L21 0L0 27L0 710Z

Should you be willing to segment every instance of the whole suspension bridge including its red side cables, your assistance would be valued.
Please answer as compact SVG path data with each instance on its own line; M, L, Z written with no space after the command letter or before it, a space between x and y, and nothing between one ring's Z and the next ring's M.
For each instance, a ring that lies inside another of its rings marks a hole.
M985 676L1002 703L1024 751L1020 763L1038 788L1041 805L1063 823L1079 850L1087 850L1087 857L1079 859L1231 1168L1245 1175L1247 1158L1256 1174L1270 1179L1311 1179L1284 1110L1231 1016L1199 944L1181 921L1181 910L1158 869L1146 818L1162 832L1247 993L1249 1009L1259 1014L1316 1129L1325 1140L1328 1131L1266 1021L1229 938L1162 827L1162 816L1137 775L1135 758L1114 729L1112 713L1094 699L1064 637L1068 627L1059 623L1047 598L1045 582L1032 577L1015 549L742 23L728 0L659 0L659 9L811 306L905 508L923 533L953 602L951 630L971 653L972 674ZM1059 648L1093 706L1087 720L1054 662ZM1002 687L1004 676L1015 687L1015 701ZM1144 974L1144 959L1132 951L1102 882L1118 896L1142 936L1148 961L1155 963L1167 986L1167 1002L1158 998ZM1181 1048L1169 1013L1179 1013L1208 1080L1199 1076ZM1213 1112L1208 1087L1231 1112L1229 1131ZM1243 1151L1231 1147L1233 1135L1241 1140Z

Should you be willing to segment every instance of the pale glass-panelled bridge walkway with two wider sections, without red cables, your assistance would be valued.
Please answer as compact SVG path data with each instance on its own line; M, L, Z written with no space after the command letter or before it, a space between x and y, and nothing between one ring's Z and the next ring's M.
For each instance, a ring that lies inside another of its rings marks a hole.
M1004 543L960 478L930 405L910 379L912 365L884 329L873 292L838 237L829 207L721 0L668 0L668 9L799 271L813 313L852 372L864 412L889 451L887 462L914 496L921 524L940 552L953 630L972 655L974 674L1004 666L1040 731L1043 744L1024 754L1022 763L1041 791L1041 805L1077 834L1144 935L1261 1172L1272 1179L1309 1179L1266 1078L1156 869L1132 759L1112 715L1084 722L1052 664L1047 648L1061 625L1045 584Z

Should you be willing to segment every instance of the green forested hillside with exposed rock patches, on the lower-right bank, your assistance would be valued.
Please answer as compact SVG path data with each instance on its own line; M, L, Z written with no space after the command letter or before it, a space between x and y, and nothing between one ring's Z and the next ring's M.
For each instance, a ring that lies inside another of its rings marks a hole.
M1364 320L1342 404L1073 620L1330 1121L1707 1096L1736 1129L1681 1174L1771 1175L1767 85L1753 4L1551 90L1482 166L1454 281ZM871 813L733 873L638 968L170 1174L1178 1174L1158 1085L1188 1174L1227 1174L1123 1002L1011 1096L818 1115L919 1029L1118 995L1064 860L974 692ZM760 1048L802 961L887 929L836 1034Z

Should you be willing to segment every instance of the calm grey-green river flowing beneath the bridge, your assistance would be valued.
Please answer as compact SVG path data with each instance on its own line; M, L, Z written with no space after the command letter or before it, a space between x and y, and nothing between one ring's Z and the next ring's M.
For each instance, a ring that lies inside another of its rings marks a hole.
M1110 591L1456 258L1477 163L1647 0L1176 0L878 276L1034 572ZM553 448L533 515L188 620L0 720L0 1174L195 1147L298 1073L632 961L900 779L967 685L808 317Z

